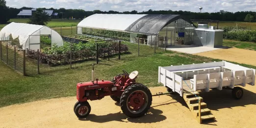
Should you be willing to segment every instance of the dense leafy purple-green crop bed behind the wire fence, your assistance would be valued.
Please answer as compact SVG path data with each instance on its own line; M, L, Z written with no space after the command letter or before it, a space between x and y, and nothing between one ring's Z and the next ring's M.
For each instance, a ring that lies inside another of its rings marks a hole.
M101 58L113 56L119 51L119 43L98 42L99 56ZM128 47L121 44L121 52L128 52ZM45 47L41 52L27 50L26 56L31 59L39 59L40 63L49 64L50 66L69 64L70 62L81 62L96 58L96 43L89 41L87 43L69 43L57 47L53 45Z

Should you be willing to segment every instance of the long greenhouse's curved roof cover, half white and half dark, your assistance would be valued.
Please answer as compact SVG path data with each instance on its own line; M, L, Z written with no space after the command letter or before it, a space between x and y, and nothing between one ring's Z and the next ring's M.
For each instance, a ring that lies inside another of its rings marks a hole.
M164 26L178 19L195 26L180 15L164 14L94 14L82 20L77 26L156 35Z

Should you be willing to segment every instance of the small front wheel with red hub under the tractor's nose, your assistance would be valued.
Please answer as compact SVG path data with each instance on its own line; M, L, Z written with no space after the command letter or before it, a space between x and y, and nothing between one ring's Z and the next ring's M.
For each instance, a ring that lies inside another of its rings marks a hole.
M89 102L79 102L75 109L75 114L77 115L78 118L85 118L90 114L90 112L91 112L91 106Z

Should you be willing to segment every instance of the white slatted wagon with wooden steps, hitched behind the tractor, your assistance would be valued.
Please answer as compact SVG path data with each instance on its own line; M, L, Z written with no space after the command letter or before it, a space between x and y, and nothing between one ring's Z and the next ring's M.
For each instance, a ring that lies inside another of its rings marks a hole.
M183 97L199 123L215 117L206 108L198 90L209 92L210 89L231 89L232 96L241 99L243 89L237 85L255 85L255 75L255 69L226 61L158 67L158 82L162 83L168 92L175 92Z

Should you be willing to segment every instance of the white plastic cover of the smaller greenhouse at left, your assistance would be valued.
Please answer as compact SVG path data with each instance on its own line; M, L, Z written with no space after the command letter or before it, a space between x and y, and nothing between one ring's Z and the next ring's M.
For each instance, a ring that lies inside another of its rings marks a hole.
M10 23L7 26L4 26L0 31L0 38L8 37L12 35L13 39L19 37L20 45L23 45L23 49L28 49L28 43L40 43L39 40L28 40L29 36L35 35L51 35L51 42L56 43L57 46L63 45L63 40L61 36L51 28L47 26L31 25L24 23ZM31 39L31 38L30 38Z

